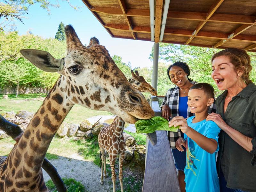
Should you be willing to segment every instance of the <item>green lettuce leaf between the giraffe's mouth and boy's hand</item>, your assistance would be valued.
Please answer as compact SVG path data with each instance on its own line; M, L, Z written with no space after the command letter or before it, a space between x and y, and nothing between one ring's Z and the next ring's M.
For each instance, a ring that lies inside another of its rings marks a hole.
M177 132L180 126L169 127L168 121L160 116L151 119L141 119L135 123L136 133L153 133L154 131L165 130Z

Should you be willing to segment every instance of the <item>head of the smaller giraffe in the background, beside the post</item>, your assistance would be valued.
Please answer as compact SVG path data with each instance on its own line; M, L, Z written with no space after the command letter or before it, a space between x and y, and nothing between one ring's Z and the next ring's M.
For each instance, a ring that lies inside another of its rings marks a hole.
M138 71L134 72L131 70L132 78L129 79L129 82L132 84L132 86L138 89L140 92L149 92L151 95L156 96L156 90L145 81L143 76L139 75Z

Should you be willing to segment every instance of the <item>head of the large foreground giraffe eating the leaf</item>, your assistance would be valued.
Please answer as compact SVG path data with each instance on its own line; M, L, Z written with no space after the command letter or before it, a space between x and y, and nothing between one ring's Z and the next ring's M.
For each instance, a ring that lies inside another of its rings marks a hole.
M154 112L95 37L84 46L74 28L65 28L67 56L55 59L49 52L23 49L21 54L36 67L61 74L58 86L71 104L109 111L129 123L149 119Z

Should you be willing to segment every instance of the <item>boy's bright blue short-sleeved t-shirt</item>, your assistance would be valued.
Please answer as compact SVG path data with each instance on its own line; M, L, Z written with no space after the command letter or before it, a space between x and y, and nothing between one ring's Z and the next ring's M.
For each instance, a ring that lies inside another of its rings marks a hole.
M220 128L213 121L203 121L192 123L191 116L187 119L188 126L205 137L214 139L218 143L218 134ZM210 154L199 147L196 142L184 134L184 139L187 140L186 161L185 167L185 182L186 191L188 192L219 192L219 179L216 170L216 155L219 150L219 144L215 153Z

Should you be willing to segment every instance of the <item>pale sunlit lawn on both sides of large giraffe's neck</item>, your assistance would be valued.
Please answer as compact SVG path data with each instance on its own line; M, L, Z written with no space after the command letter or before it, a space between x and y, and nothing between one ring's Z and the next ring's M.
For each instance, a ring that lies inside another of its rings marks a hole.
M43 101L40 100L30 100L32 98L40 98L45 97L45 94L21 94L18 98L15 95L8 95L7 100L2 99L2 95L0 95L0 109L2 112L10 112L14 111L17 113L21 110L26 110L32 113L36 113L39 107L42 105ZM64 122L76 123L79 124L83 120L98 115L112 115L110 112L106 111L94 111L88 108L85 108L80 105L74 105L71 111L66 116Z

